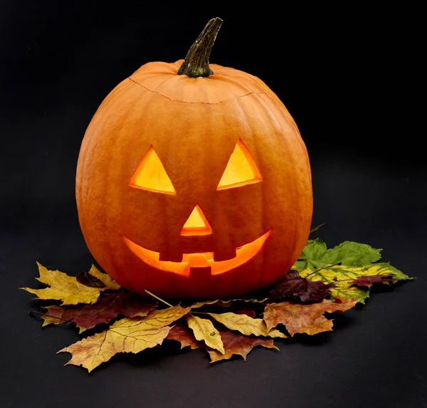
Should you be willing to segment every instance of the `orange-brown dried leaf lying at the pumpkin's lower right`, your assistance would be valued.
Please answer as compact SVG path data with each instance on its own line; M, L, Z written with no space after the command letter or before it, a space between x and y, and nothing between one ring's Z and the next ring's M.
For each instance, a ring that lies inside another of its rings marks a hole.
M323 299L320 303L305 305L294 302L270 303L265 306L264 320L268 328L275 328L282 323L291 336L295 333L315 335L332 330L332 320L325 318L325 312L349 310L356 303L357 299Z

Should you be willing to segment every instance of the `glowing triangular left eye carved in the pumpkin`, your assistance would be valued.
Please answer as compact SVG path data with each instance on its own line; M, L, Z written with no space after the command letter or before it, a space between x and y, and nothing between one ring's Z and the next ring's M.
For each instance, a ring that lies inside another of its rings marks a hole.
M148 190L149 192L176 194L171 179L169 179L153 147L149 148L147 155L139 163L139 166L130 179L129 185L130 187Z

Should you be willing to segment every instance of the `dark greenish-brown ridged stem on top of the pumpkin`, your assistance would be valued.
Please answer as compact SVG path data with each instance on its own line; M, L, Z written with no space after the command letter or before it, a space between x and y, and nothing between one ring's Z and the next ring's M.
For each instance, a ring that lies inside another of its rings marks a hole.
M214 73L209 66L209 56L211 56L216 35L221 28L223 21L216 17L209 20L200 36L194 41L187 53L184 63L178 70L178 75L188 75L190 78L199 76L209 76Z

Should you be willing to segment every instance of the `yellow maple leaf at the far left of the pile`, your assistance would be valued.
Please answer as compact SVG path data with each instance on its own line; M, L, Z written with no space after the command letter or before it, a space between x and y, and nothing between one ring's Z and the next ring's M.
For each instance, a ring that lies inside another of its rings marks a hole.
M98 300L102 288L90 288L79 283L74 276L68 276L60 271L49 271L40 263L37 263L37 265L40 278L36 279L50 287L44 289L20 289L34 293L38 299L62 300L62 305L95 303Z

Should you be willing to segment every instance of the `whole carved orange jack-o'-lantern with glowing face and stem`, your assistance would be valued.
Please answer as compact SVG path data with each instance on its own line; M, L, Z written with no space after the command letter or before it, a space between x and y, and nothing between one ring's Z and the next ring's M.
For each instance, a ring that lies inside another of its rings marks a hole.
M147 63L107 95L78 158L80 226L120 285L221 298L277 281L310 230L307 150L260 79L209 66L221 19L184 61Z

